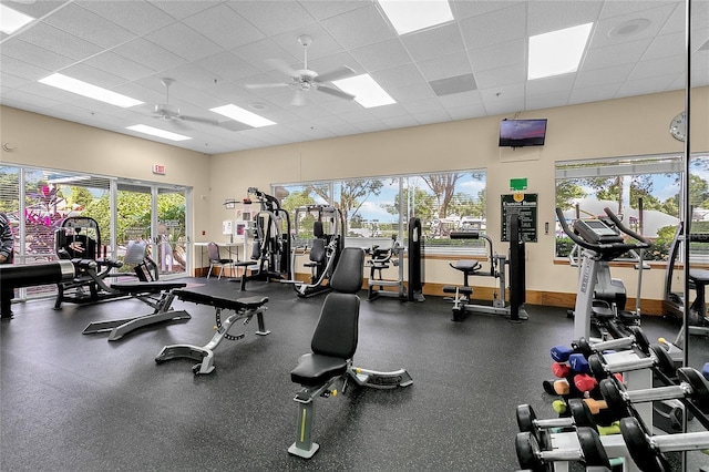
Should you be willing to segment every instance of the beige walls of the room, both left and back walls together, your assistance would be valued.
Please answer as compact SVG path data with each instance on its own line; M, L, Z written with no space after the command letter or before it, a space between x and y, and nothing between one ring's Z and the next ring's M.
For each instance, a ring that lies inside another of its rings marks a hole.
M684 103L680 91L523 113L518 117L548 119L543 147L497 147L499 121L505 116L491 116L213 156L3 107L2 142L14 150L3 151L2 160L192 186L197 242L225 240L222 220L230 213L222 204L245 197L250 186L269 192L271 183L470 168L487 172L487 228L499 242L500 195L510 193L510 178L526 177L527 192L540 202L538 243L526 249L527 289L573 294L575 269L554 265L554 236L544 235L544 223L553 227L555 218L555 162L681 152L668 125ZM692 92L692 151L709 151L706 130L709 88L701 88ZM167 175L153 175L153 163L166 165ZM506 246L497 243L495 250L504 254ZM635 294L634 270L614 268L614 277ZM427 260L428 281L459 278L448 261ZM643 298L661 299L662 284L662 270L646 274Z

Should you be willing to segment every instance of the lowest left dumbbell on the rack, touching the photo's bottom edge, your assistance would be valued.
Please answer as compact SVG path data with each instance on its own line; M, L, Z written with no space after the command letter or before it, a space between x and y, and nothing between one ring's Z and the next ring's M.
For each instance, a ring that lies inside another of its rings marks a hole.
M600 437L593 428L582 427L576 430L579 449L555 449L543 451L531 432L517 433L515 450L522 469L533 472L546 472L547 465L557 461L582 461L586 465L600 465L610 469L610 462Z

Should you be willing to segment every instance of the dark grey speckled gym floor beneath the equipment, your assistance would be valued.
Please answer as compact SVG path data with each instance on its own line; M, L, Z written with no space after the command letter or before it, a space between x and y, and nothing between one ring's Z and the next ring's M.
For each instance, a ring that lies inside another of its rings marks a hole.
M367 301L361 293L356 365L405 368L414 383L317 399L320 450L309 461L291 456L299 386L289 371L309 352L325 296L299 299L274 283L250 281L240 294L225 279L188 281L207 293L268 296L270 335L255 336L253 320L244 339L215 349L213 373L194 376L194 361L154 359L166 345L206 345L210 307L175 300L191 320L109 342L83 328L151 309L136 299L61 310L53 299L16 305L14 319L0 325L0 470L512 471L515 407L554 415L541 383L552 378L549 348L571 341L565 310L527 306L522 324L452 322L442 298ZM658 318L643 327L650 339L674 339L678 329Z

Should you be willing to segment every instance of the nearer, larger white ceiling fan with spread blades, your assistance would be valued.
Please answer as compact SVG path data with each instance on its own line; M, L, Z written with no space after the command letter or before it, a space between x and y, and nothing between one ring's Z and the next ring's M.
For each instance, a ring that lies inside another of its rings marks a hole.
M305 52L304 66L302 69L296 70L290 68L286 61L280 59L267 59L266 63L268 63L274 69L285 73L290 78L289 82L277 82L277 83L249 83L246 84L247 89L270 89L270 88L279 88L287 86L290 90L296 91L296 95L294 96L292 104L294 105L302 105L305 104L305 92L309 92L311 90L316 90L318 92L325 92L330 95L337 96L339 99L345 100L354 100L354 95L342 92L341 90L333 89L331 86L323 85L325 82L331 82L333 80L345 79L354 75L354 72L351 68L347 65L342 65L341 68L335 69L329 72L325 72L322 74L318 74L316 71L308 69L308 47L312 43L312 38L307 34L302 34L298 37L298 42L302 45Z

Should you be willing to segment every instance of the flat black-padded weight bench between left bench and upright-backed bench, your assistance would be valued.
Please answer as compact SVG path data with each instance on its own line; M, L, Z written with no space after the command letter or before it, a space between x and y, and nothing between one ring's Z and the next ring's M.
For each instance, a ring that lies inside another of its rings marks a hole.
M258 320L259 336L266 336L270 331L266 330L264 325L264 311L266 311L266 302L268 297L245 297L245 298L224 298L214 295L202 294L192 290L173 290L173 295L183 301L192 301L197 305L209 305L215 308L217 332L214 334L212 340L203 347L193 345L172 345L165 346L163 350L155 358L155 362L162 363L171 359L186 358L199 361L199 363L193 366L192 371L195 376L201 373L210 373L214 367L214 349L222 342L223 339L236 341L243 339L246 334L229 335L229 330L234 324L240 319L244 319L244 325L248 324L254 315ZM230 315L227 319L222 321L222 310L232 310L234 315Z

